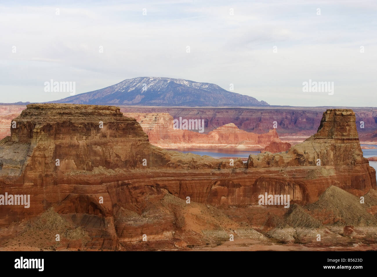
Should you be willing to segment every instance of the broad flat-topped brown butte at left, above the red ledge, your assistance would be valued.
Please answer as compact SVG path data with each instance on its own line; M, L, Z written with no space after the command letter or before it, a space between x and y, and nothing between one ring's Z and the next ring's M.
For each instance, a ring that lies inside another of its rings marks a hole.
M18 158L22 166L12 168L5 161L3 170L18 169L21 178L34 184L52 182L54 173L65 171L136 167L143 158L164 162L150 151L139 124L116 107L30 104L12 121L16 127L1 147L17 145L28 152Z

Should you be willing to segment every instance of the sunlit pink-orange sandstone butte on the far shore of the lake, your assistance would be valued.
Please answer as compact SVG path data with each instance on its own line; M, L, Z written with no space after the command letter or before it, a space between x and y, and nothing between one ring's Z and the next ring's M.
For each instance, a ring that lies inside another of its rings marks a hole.
M275 153L288 150L291 146L289 143L280 141L275 129L268 133L256 134L240 130L233 123L228 123L208 133L199 133L192 130L173 129L173 117L169 113L123 113L123 115L133 117L139 122L151 144L166 149L263 149L268 147L268 151Z

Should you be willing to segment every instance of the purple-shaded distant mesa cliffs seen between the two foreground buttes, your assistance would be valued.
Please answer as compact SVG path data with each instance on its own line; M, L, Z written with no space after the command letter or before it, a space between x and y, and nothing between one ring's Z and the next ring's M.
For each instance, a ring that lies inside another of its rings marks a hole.
M272 129L276 121L279 133L312 135L318 128L323 108L307 110L262 108L189 108L189 107L120 107L121 112L129 113L168 113L173 118L204 119L205 131L217 129L233 123L246 132L265 133ZM377 110L376 110L377 113ZM377 124L375 125L377 129Z

